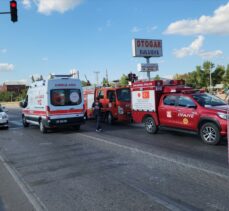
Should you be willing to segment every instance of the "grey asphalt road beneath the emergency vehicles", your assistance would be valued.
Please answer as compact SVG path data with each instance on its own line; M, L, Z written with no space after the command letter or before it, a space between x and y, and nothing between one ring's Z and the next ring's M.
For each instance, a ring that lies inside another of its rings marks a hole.
M41 134L22 127L19 109L9 115L0 162L35 210L229 209L226 141L208 146L193 135L149 135L124 124L96 133L94 121ZM10 210L16 197L4 196L0 189L0 210Z

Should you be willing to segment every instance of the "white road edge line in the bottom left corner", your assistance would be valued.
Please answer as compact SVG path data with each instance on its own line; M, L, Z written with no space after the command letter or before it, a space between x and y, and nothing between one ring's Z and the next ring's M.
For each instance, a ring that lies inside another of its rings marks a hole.
M30 186L23 180L23 178L20 176L17 170L13 166L9 165L1 155L0 155L0 161L3 163L3 165L8 170L8 172L11 174L11 176L18 184L18 186L21 188L22 192L28 198L29 202L32 204L34 209L36 211L48 211L48 209L43 204L43 202L34 193L34 191L30 188Z

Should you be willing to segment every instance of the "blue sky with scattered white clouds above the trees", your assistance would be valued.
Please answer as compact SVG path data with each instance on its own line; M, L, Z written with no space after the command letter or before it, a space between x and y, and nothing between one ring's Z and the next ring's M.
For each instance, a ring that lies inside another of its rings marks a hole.
M68 74L95 82L138 73L132 39L161 39L161 77L212 61L229 64L228 0L17 0L18 22L0 15L0 84L32 75ZM0 0L0 12L9 0Z

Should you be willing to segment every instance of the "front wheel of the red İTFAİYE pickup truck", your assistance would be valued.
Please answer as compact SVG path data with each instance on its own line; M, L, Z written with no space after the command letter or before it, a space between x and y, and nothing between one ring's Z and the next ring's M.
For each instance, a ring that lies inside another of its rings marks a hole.
M200 128L200 137L204 143L216 145L220 141L219 128L214 123L207 122Z

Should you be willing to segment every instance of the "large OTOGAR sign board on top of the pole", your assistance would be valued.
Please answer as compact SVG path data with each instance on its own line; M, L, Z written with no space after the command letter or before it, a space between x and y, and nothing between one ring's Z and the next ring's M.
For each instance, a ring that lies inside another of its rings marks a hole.
M162 40L133 39L132 51L134 57L161 57Z

